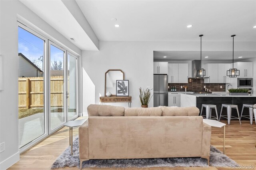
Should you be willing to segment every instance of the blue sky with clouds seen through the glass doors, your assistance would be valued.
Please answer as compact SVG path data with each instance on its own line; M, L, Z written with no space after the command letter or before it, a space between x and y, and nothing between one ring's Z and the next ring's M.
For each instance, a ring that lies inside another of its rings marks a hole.
M42 69L43 62L40 59L44 58L44 40L20 27L18 27L18 52L25 55L30 61L38 63L37 66ZM50 53L51 61L62 61L64 63L64 52L62 50L51 45ZM43 57L40 58L40 56Z

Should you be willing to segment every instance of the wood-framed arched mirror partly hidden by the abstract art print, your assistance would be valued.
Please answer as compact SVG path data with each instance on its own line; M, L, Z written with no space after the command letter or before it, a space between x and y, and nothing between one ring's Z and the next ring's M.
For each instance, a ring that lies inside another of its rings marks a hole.
M120 69L109 69L105 73L105 96L109 91L112 96L116 95L116 80L124 80L124 72Z

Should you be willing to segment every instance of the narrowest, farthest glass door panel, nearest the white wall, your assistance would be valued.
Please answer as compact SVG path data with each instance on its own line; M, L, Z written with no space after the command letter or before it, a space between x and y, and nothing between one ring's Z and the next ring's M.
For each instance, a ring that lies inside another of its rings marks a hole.
M67 64L67 112L68 112L68 120L73 119L74 117L78 116L77 114L77 58L68 53Z

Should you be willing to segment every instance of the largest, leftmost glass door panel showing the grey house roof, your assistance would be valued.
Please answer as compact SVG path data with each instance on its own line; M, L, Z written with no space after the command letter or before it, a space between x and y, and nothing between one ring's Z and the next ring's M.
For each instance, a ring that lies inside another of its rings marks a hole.
M18 123L19 148L39 141L46 130L47 40L19 24L18 26Z

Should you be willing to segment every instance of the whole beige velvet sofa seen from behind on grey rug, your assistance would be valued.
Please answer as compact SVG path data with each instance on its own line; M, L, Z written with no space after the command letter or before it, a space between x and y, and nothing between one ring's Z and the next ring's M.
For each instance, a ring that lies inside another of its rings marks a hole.
M80 167L89 159L210 156L211 127L196 107L89 105L79 127Z

